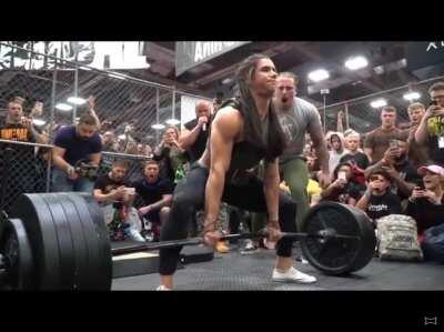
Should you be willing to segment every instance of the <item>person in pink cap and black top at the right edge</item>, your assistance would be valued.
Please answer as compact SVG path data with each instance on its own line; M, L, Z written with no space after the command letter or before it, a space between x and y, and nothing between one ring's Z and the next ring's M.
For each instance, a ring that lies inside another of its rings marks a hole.
M416 221L420 241L425 230L444 223L444 169L436 164L421 167L423 185L415 187L408 198L405 214Z

